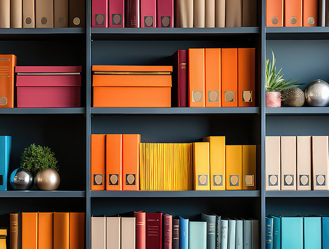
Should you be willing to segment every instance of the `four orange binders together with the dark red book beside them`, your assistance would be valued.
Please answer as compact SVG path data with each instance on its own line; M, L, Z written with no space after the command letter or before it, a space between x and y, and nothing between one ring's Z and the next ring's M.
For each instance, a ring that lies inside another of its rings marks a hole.
M178 50L173 62L174 106L255 107L255 48Z

